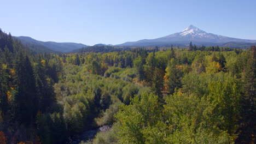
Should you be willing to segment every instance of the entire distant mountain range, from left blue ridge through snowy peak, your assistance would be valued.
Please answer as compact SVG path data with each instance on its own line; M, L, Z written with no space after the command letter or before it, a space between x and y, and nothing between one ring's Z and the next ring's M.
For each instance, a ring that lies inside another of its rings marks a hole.
M84 49L88 45L78 43L56 43L54 41L39 41L31 37L14 37L21 41L35 52L59 53L59 52L74 52L75 50ZM162 46L188 46L190 41L196 45L240 48L245 49L256 44L256 40L237 39L225 37L222 35L207 33L193 25L186 27L183 31L167 35L156 39L143 39L138 41L126 42L119 45L96 44L94 46L115 46L115 47L152 47Z

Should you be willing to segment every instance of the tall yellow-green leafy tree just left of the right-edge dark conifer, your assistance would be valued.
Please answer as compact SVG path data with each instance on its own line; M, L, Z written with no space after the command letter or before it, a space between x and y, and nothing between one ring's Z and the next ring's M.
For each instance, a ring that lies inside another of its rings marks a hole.
M216 120L220 128L228 130L230 135L234 134L240 113L240 83L233 77L225 75L223 80L211 82L208 88L210 93L207 101L211 103L208 109L213 110L216 117L220 118Z

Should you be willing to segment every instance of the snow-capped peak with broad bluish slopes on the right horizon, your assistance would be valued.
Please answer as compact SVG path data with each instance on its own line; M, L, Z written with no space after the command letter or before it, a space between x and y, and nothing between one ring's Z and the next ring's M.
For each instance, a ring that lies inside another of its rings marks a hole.
M182 32L167 35L165 37L157 39L143 39L135 42L126 42L118 46L155 46L155 45L185 45L189 44L190 41L194 44L223 44L228 42L236 43L256 43L256 40L237 39L224 37L222 35L216 35L207 33L201 29L190 25L185 28Z

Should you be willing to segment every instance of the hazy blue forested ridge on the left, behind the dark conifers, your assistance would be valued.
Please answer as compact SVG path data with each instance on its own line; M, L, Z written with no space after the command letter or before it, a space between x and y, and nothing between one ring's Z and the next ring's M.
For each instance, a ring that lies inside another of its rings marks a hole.
M35 47L36 49L42 49L42 51L53 51L53 52L70 52L75 49L80 49L82 47L88 47L84 44L77 43L56 43L53 41L39 41L32 39L30 37L14 37L21 41L22 44Z

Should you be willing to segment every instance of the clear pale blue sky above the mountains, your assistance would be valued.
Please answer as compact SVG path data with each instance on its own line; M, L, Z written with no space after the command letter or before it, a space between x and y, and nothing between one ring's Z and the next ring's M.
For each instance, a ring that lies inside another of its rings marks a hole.
M189 25L256 40L255 0L0 0L0 5L2 31L42 41L121 44Z

